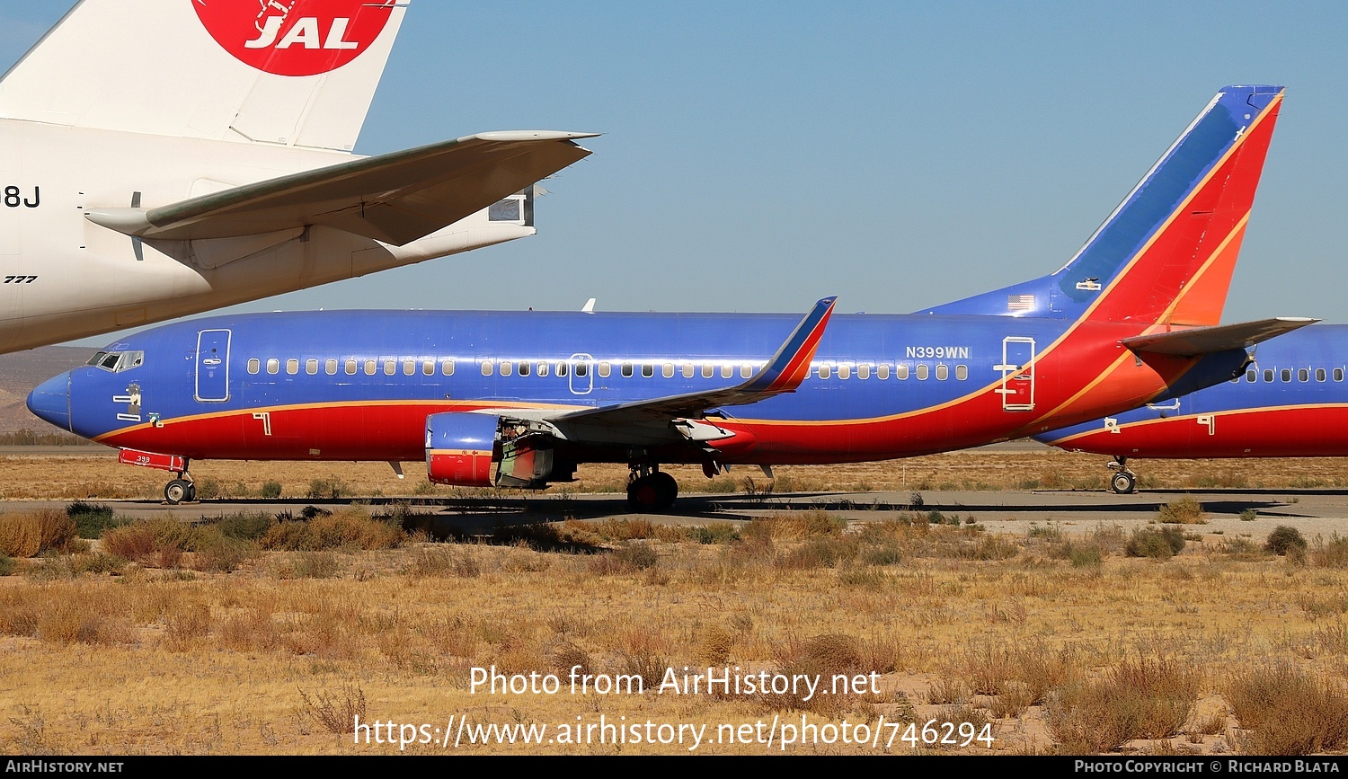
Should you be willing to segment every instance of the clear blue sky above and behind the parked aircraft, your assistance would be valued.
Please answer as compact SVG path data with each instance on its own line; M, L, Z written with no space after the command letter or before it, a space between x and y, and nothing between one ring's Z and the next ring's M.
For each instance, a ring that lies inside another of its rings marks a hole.
M66 7L0 0L0 70ZM1341 1L412 0L359 152L546 128L594 155L534 237L239 309L911 311L1057 270L1254 82L1287 98L1225 321L1348 322L1345 78Z

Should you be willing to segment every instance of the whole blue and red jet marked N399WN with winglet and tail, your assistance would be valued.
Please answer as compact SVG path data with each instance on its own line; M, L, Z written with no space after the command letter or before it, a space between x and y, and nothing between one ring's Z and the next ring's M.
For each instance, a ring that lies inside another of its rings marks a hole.
M178 472L191 460L425 460L431 481L541 488L625 462L830 464L1019 438L1229 380L1308 323L1217 326L1282 89L1221 90L1057 272L934 311L315 311L135 334L28 407Z

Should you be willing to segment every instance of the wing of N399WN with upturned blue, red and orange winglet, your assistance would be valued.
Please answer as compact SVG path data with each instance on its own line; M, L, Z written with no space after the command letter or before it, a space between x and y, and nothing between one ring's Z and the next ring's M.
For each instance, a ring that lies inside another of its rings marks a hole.
M820 348L820 338L833 314L837 298L824 298L795 326L791 337L776 350L776 354L749 380L735 387L669 395L651 400L634 400L616 406L600 406L584 411L572 411L549 418L549 422L582 423L599 426L650 425L670 422L686 416L698 416L704 411L720 406L747 406L783 392L795 392L801 381L810 375L810 360Z

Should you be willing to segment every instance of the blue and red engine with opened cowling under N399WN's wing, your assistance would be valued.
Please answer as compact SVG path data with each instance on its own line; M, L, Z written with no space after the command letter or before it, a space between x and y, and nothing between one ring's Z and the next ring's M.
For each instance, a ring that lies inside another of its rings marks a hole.
M553 437L528 423L448 411L426 418L426 476L453 487L542 488L553 472Z

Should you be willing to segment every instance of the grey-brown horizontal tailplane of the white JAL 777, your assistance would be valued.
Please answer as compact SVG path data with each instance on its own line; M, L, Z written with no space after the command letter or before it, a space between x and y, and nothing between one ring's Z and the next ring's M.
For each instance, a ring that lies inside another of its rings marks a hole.
M589 155L597 133L484 132L243 185L154 209L94 209L142 239L195 240L328 225L403 245Z

